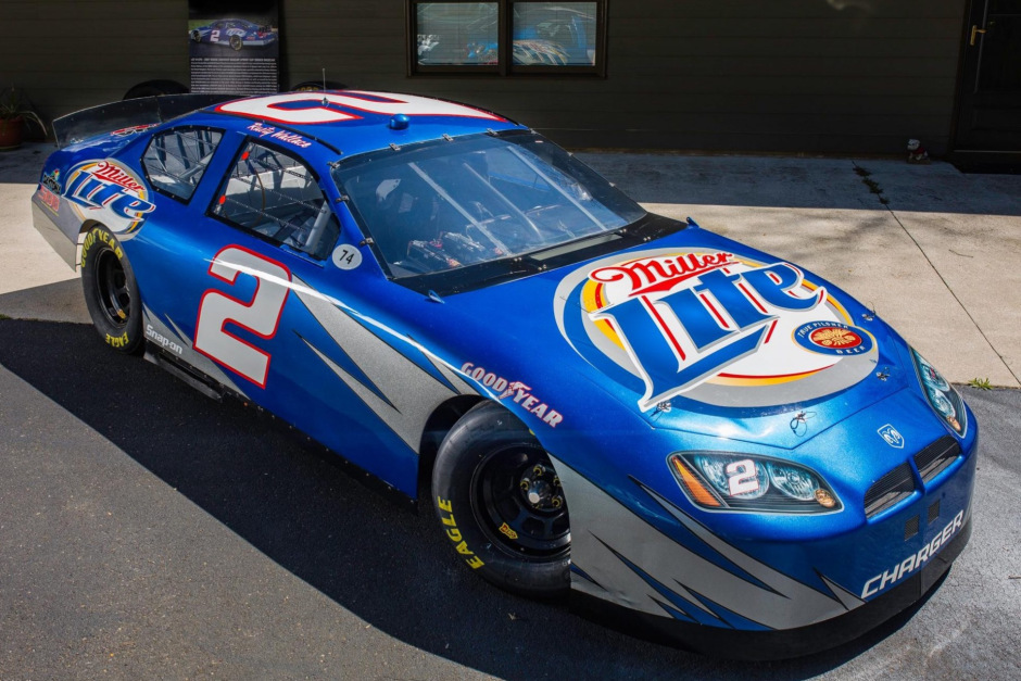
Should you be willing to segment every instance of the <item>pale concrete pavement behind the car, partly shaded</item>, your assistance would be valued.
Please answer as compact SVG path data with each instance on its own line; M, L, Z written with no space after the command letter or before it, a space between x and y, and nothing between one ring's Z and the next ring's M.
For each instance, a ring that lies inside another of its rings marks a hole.
M52 149L0 154L0 314L87 323L76 275L31 227ZM1021 176L871 159L579 157L651 211L830 279L951 381L1021 388Z

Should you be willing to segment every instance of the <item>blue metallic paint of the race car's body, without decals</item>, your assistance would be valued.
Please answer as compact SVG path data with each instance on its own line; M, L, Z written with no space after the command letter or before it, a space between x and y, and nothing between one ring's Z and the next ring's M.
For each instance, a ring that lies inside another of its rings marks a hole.
M392 403L394 396L381 388L379 377L366 374L351 358L325 328L324 319L303 303L302 294L327 301L338 314L348 315L366 329L380 343L379 348L395 349L407 357L406 364L394 368L399 376L383 377L391 383L400 379L408 386L430 386L430 390L438 391L433 394L443 394L449 389L453 398L469 391L455 386L446 376L456 374L466 363L508 383L520 381L549 411L556 411L562 420L551 425L542 415L531 413L535 402L526 408L524 400L515 402L514 394L502 398L493 390L492 381L487 386L481 378L472 378L470 371L461 375L464 383L479 395L499 401L515 413L556 461L620 502L636 519L747 581L755 582L757 578L707 548L669 507L709 528L748 556L830 595L825 580L860 595L869 579L919 551L958 510L965 512L966 520L970 519L978 442L978 428L970 413L970 426L959 438L960 459L929 483L918 479L919 491L905 502L866 519L862 508L866 489L891 468L910 461L912 453L951 431L927 402L904 340L885 323L867 314L848 294L811 273L806 272L805 277L824 285L829 294L846 306L854 324L874 338L875 371L837 392L797 403L731 407L680 394L671 399L668 412L640 411L636 399L643 391L642 381L612 363L592 361L596 355L589 352L591 344L587 344L578 328L580 317L565 323L566 336L558 328L553 313L558 287L565 276L584 267L584 263L449 295L441 302L388 280L330 179L329 164L388 144L520 126L492 117L411 116L409 125L394 129L389 126L389 115L364 111L357 115L362 117L341 124L287 126L311 144L299 148L278 143L308 163L318 176L341 225L340 242L361 251L363 264L352 270L340 270L329 260L315 261L206 216L220 178L248 139L255 118L202 111L128 138L99 136L52 154L43 174L54 169L66 173L81 161L112 157L144 177L140 157L153 134L182 124L224 130L220 147L190 202L185 204L152 192L156 210L147 216L137 236L123 244L146 306L162 320L172 321L185 336L179 340L190 343L196 335L199 301L205 291L220 290L241 301L254 295L253 277L241 276L234 286L228 286L209 276L212 260L224 247L236 244L283 264L292 275L292 288L302 286L297 283L300 281L312 291L301 292L297 288L291 291L279 330L272 339L247 337L272 356L266 388L261 389L225 368L234 382L228 388L250 396L409 496L417 493L417 447L409 446L329 365L340 367L382 402ZM281 127L275 122L263 124ZM56 215L46 211L37 211L36 215L37 219L40 215L52 219L75 241L81 225L66 201L61 200ZM34 202L41 206L38 196ZM696 226L632 250L653 247L719 250L757 262L776 262L765 253ZM568 311L578 304L577 295L566 301ZM885 378L878 378L875 373L884 374ZM803 415L799 421L795 418L798 414ZM878 430L887 424L903 434L906 443L903 450L891 447L879 437ZM671 453L695 450L777 457L808 466L823 476L841 499L843 509L793 516L699 508L680 490L666 463ZM572 489L565 487L570 506ZM925 524L925 509L935 500L944 510L936 521ZM905 522L913 516L921 516L921 530L905 540ZM597 517L573 513L571 520L576 535L588 531L585 522L598 522ZM655 555L655 547L648 553ZM623 553L618 557L628 569L645 575L643 579L648 577L633 558ZM590 570L587 556L575 554L572 559L576 580L584 580ZM661 592L660 587L655 588ZM661 595L667 601L676 597ZM677 604L665 606L663 615L690 619L691 608L684 609L689 615L681 615L679 608ZM761 628L736 613L726 623L714 618L705 618L702 623Z

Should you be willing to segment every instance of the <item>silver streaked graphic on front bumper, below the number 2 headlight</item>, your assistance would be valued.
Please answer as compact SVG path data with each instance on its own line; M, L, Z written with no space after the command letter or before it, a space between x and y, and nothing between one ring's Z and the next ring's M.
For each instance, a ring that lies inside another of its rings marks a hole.
M735 457L742 458L749 457ZM797 576L781 571L632 478L647 495L642 505L666 514L670 529L665 533L645 513L636 515L564 462L551 459L576 500L571 508L591 529L571 538L572 566L588 576L572 572L571 589L648 615L726 629L794 629L864 604L822 566Z

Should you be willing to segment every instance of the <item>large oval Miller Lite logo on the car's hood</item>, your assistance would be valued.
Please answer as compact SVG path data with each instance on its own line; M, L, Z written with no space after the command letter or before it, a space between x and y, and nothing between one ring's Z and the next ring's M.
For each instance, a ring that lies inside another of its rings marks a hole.
M878 355L801 269L728 251L590 263L560 282L554 312L571 346L634 390L642 411L678 395L735 407L811 400L866 378Z

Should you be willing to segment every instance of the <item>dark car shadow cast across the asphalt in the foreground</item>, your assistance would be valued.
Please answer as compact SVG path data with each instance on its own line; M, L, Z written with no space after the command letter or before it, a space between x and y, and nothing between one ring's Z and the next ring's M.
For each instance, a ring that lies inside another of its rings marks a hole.
M428 507L416 515L391 504L336 455L110 351L89 326L0 320L0 364L343 608L484 673L804 679L881 643L922 605L858 641L791 661L727 661L655 645L486 584L441 541Z

